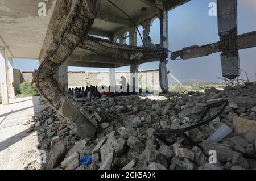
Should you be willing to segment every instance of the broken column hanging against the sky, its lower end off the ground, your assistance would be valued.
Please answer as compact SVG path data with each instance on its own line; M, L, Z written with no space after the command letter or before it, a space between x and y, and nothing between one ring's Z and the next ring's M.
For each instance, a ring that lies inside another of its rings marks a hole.
M234 79L241 73L237 49L237 0L217 0L217 8L222 75Z

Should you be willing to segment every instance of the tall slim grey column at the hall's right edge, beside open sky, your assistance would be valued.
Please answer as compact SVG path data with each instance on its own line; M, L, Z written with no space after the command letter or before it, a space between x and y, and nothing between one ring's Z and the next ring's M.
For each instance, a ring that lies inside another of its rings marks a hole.
M160 13L160 37L161 47L168 49L168 11L163 9ZM160 86L163 92L168 92L168 71L167 71L167 60L160 60L159 65L159 78Z

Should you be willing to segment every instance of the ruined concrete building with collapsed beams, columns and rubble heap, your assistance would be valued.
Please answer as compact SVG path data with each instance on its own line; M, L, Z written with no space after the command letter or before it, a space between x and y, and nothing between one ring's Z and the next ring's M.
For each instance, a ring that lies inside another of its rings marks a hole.
M27 11L38 13L37 6L24 2L15 2L16 7L26 6ZM168 51L168 11L189 0L129 0L123 1L122 8L118 2L48 1L47 17L34 28L29 26L40 17L20 12L28 26L27 35L3 34L3 104L9 104L9 93L14 94L7 89L5 57L10 65L14 57L40 61L33 83L50 108L27 124L31 130L38 129L39 147L47 151L43 169L256 169L255 82L227 86L223 91L212 88L204 94L168 93L166 64L170 57L187 60L221 52L223 77L240 75L238 50L255 47L256 32L238 35L237 0L217 1L219 42L177 52ZM8 10L12 2L5 6ZM17 18L19 11L8 12L9 18ZM155 17L160 19L159 45L152 44L149 36ZM1 28L15 28L10 19ZM139 24L144 28L142 34L137 31ZM126 32L129 37L123 36ZM137 33L143 47L137 46ZM125 44L126 38L130 45ZM20 45L24 42L27 47ZM130 65L135 91L139 65L152 61L159 61L159 96L102 96L81 103L67 93L68 66L109 68L110 87L115 87L115 68ZM210 162L212 150L217 158ZM81 165L81 159L89 161Z

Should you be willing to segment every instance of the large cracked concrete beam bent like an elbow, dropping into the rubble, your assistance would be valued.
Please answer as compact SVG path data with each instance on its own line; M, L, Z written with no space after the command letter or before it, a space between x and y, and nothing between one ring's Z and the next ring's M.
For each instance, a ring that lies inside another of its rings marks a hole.
M54 76L92 28L99 5L98 0L57 1L40 53L40 66L33 74L39 94L81 138L94 138L96 127Z

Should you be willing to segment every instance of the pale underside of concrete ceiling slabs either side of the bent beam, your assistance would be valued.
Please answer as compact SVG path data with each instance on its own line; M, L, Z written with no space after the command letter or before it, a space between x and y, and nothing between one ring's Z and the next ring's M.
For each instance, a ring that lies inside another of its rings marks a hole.
M190 0L165 1L168 10ZM6 47L6 56L13 58L39 59L47 28L56 7L57 0L46 3L46 16L39 16L38 7L41 0L0 1L0 46ZM139 24L148 18L158 16L156 2L141 0L115 0L118 7L127 12ZM155 5L154 5L155 4ZM93 24L90 35L111 37L121 28L131 27L133 22L107 0L101 0L100 12Z

